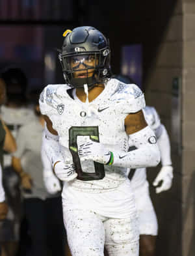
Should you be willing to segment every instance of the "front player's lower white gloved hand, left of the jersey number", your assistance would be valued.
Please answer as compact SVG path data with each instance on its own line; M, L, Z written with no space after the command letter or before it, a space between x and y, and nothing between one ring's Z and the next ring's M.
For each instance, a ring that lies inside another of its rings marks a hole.
M66 160L65 162L59 161L54 164L55 175L63 181L70 181L77 177L75 173L75 165L72 161Z

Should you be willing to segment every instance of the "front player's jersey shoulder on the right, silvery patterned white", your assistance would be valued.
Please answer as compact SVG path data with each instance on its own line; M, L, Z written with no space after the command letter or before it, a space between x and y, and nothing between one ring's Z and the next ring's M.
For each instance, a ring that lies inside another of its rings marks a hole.
M136 113L146 106L144 93L137 85L111 79L110 86L112 85L114 85L114 90L111 93L110 101L121 106L122 113Z

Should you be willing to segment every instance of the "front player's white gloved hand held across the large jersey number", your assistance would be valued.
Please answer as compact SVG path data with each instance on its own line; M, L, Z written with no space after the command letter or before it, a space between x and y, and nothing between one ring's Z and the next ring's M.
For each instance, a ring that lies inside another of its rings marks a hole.
M92 160L100 164L107 164L110 160L110 151L101 143L94 141L79 145L78 154L83 161Z

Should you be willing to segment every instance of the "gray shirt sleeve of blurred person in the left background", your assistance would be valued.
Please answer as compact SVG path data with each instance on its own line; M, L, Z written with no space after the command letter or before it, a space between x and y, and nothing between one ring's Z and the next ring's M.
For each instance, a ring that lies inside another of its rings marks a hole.
M16 138L16 146L17 150L12 154L12 156L15 156L16 158L21 158L23 153L26 149L26 137L28 136L28 133L25 131L25 129L22 127L19 129L18 136Z

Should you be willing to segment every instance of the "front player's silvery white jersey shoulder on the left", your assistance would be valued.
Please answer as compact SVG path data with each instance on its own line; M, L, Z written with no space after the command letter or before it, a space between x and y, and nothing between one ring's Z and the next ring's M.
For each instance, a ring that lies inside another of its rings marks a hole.
M62 98L68 97L68 85L47 85L40 94L39 105L43 115L52 114L60 106Z

